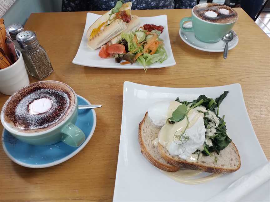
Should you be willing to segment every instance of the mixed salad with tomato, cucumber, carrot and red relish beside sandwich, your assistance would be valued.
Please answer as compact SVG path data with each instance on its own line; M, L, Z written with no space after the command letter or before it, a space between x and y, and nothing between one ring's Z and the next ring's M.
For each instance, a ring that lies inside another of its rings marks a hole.
M98 55L101 58L114 57L115 62L121 65L137 61L146 70L148 65L155 62L162 63L168 58L163 40L159 38L163 29L163 26L145 24L135 32L123 32L118 43L103 45Z

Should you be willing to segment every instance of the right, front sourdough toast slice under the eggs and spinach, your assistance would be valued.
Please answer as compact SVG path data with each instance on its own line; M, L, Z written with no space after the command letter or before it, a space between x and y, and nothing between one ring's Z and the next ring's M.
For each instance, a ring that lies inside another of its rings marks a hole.
M212 156L202 156L197 162L189 162L177 156L172 156L168 150L159 143L158 150L161 156L170 164L190 170L201 170L210 173L228 173L237 171L241 166L240 156L233 142L225 147L225 149L221 150L219 154L212 152ZM215 158L217 162L215 162Z

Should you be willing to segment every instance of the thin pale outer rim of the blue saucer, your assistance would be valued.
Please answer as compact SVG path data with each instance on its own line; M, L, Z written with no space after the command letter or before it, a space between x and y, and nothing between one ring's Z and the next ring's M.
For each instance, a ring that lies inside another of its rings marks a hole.
M80 97L81 99L85 100L89 105L91 105L91 103L85 99L83 96L80 96L77 94L78 97ZM83 142L83 144L81 144L79 146L78 149L76 149L75 151L73 151L72 153L70 153L68 156L65 156L57 161L53 161L51 163L45 163L45 164L39 164L39 165L36 165L36 164L28 164L28 163L24 163L22 161L19 161L17 159L15 159L13 156L11 156L11 154L8 152L4 142L2 141L2 147L3 147L3 150L4 152L6 153L6 155L16 164L20 165L20 166L24 166L24 167L28 167L28 168L47 168L47 167L51 167L51 166L55 166L55 165L58 165L60 163L63 163L65 161L67 161L68 159L72 158L73 156L75 156L76 154L78 154L86 145L87 143L90 141L90 139L92 138L93 134L94 134L94 131L96 129L96 125L97 125L97 115L96 115L96 112L94 109L93 110L93 127L89 133L89 136L87 137L87 139ZM2 131L2 139L4 137L4 132L5 132L5 128L3 128L3 131Z

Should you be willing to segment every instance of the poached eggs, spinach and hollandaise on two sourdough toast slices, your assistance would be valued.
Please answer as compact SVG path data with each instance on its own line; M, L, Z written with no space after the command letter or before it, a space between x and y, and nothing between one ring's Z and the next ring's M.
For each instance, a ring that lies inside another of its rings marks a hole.
M170 172L180 168L211 173L237 171L241 166L235 144L227 135L219 104L226 97L205 95L192 102L153 104L139 125L143 155L156 167ZM216 111L217 109L217 111Z

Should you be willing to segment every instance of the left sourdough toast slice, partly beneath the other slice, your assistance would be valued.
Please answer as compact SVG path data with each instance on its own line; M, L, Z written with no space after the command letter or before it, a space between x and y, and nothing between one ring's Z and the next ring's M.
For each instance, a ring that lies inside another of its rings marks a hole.
M143 120L139 124L138 131L141 152L154 166L164 171L176 172L180 169L179 166L173 166L165 161L160 155L158 144L153 144L153 141L158 137L160 129L161 127L155 125L147 113L145 113Z

